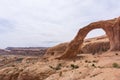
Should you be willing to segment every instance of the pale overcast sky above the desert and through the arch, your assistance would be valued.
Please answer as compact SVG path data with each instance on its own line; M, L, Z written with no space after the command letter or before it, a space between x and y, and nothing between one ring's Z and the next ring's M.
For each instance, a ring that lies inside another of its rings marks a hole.
M54 46L91 22L118 16L120 0L0 0L0 48Z

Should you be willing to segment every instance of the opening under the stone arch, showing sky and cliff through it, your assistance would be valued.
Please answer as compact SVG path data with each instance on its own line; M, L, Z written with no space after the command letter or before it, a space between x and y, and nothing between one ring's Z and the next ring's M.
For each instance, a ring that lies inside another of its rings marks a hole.
M80 53L100 54L110 49L109 38L102 29L90 30L83 41Z

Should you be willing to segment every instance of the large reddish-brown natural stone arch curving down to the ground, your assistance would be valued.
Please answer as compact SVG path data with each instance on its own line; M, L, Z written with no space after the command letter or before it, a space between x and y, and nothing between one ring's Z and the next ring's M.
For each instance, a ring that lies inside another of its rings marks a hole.
M106 21L98 21L91 23L84 28L81 28L76 35L76 37L69 43L64 55L59 58L74 58L77 53L81 50L81 46L83 44L84 38L86 35L93 29L101 28L106 32L110 40L110 50L120 51L120 17L106 20Z

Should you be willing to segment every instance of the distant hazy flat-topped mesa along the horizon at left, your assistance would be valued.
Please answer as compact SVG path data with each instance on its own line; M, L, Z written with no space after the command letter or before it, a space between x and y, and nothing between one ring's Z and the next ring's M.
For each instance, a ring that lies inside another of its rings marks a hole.
M41 56L45 54L48 47L7 47L0 49L1 55L24 55L24 56Z

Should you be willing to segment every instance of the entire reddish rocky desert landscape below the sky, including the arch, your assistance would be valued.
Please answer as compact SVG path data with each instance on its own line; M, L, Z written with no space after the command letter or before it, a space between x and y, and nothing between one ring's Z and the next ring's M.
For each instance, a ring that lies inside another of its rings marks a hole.
M99 28L106 35L85 39ZM120 17L90 23L53 47L0 49L0 80L120 80Z

